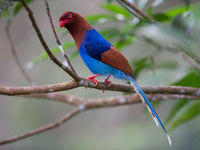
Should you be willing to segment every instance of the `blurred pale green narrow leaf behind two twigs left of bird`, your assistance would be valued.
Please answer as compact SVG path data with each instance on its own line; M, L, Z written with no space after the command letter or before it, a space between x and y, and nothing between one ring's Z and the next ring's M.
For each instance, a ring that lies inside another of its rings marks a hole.
M67 49L70 49L70 48L73 48L75 46L74 42L68 42L68 43L64 43L63 44L63 49L64 50L67 50ZM58 52L60 52L60 49L58 47L55 47L51 50L51 52L53 54L56 54ZM49 58L48 54L46 52L43 52L40 56L36 57L33 59L33 63L34 64L38 64L40 63L41 61L44 61L46 60L47 58Z

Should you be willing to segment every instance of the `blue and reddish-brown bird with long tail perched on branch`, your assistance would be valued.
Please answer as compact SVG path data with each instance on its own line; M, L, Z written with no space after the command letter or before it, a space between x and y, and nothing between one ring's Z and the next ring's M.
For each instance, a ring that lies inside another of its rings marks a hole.
M98 84L98 81L95 79L98 76L105 76L104 82L109 85L111 84L109 80L111 76L116 79L129 81L142 102L146 104L156 125L160 125L163 129L167 136L168 143L171 146L171 138L164 124L149 102L147 96L134 80L133 70L122 53L101 36L79 13L72 11L64 12L59 18L59 27L65 27L69 31L75 41L82 60L94 74L88 77L88 79L92 80L95 85Z

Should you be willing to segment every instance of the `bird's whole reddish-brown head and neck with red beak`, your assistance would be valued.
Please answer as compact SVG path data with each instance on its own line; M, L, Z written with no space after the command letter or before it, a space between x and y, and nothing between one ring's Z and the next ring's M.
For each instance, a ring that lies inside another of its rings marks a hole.
M78 48L85 37L86 31L92 29L89 23L81 15L71 11L62 14L59 19L59 27L68 29Z

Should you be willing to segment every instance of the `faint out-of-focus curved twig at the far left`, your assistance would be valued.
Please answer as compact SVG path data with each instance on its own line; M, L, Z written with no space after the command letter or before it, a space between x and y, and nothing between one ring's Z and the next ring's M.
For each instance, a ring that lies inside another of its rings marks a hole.
M19 56L17 54L17 51L16 51L16 48L15 48L12 36L10 34L10 26L11 26L11 22L10 22L10 20L8 20L6 28L5 28L5 33L6 33L8 42L10 44L10 49L11 49L13 58L15 59L15 62L17 64L17 66L19 67L19 70L21 71L21 73L24 76L24 78L27 80L27 82L29 84L33 85L34 84L33 81L31 80L31 78L29 77L29 75L27 74L27 72L24 70L24 68L23 68L23 66L22 66L22 64L20 62L20 59L19 59Z

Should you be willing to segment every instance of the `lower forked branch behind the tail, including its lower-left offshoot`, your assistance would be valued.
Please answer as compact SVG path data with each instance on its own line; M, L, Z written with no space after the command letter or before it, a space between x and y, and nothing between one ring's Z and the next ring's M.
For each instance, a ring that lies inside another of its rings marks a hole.
M65 94L60 94L60 93L51 93L51 94L42 94L42 95L40 94L40 95L32 95L32 96L61 101L61 102L67 103L67 104L72 104L74 106L77 106L78 108L76 108L71 113L66 114L64 117L60 118L59 120L57 120L53 123L47 124L43 127L35 129L33 131L29 131L27 133L0 141L0 145L13 143L13 142L22 140L24 138L28 138L30 136L40 134L42 132L59 127L60 125L62 125L63 123L68 121L70 118L74 117L80 111L83 111L83 110L141 103L141 100L137 94L127 95L127 96L116 96L116 97L111 97L111 98L101 98L101 99L83 99L83 98L73 97L70 95L65 95ZM147 97L149 100L153 100L153 101L165 100L165 99L188 99L188 100L191 100L191 99L200 98L200 96L197 97L197 96L176 95L176 94L174 94L174 95L148 94Z

